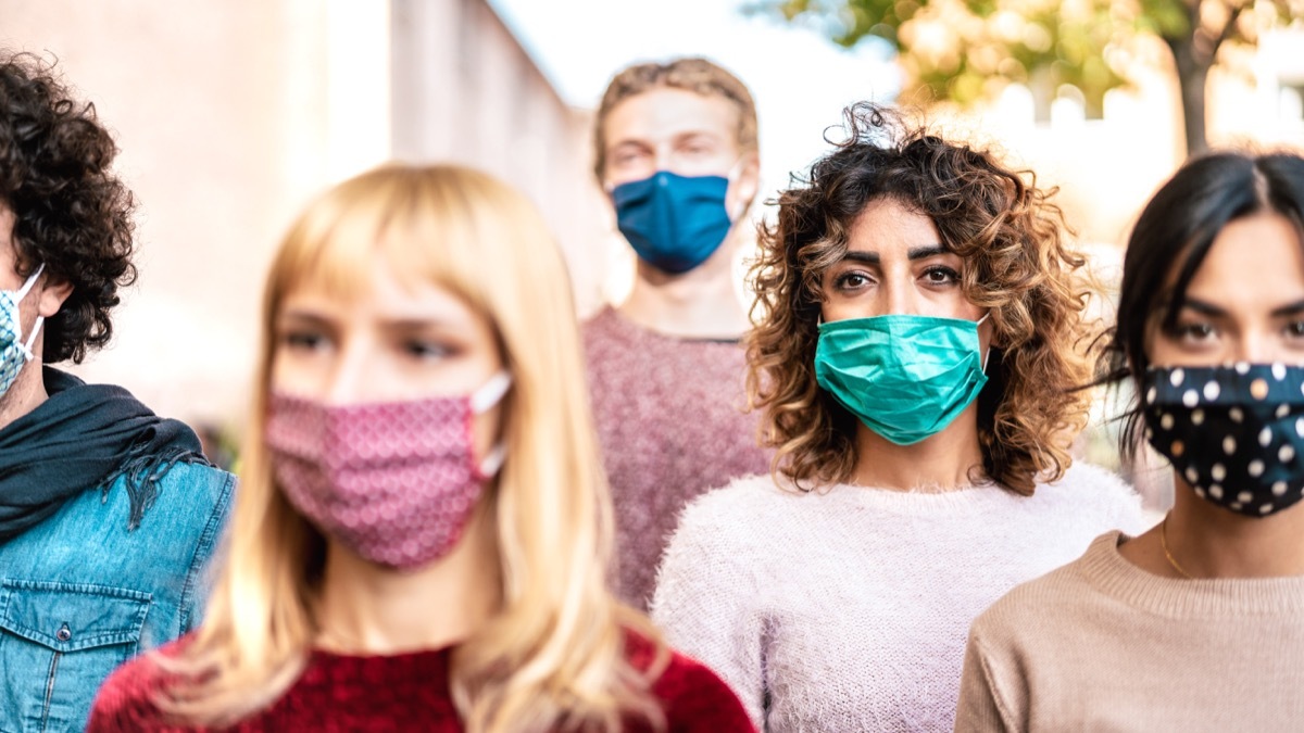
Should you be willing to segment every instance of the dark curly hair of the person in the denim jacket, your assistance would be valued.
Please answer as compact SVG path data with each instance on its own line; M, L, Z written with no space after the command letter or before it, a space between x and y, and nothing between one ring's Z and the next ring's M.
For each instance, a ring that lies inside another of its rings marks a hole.
M17 269L44 265L72 292L46 320L44 361L81 361L108 343L117 288L134 282L136 201L110 171L117 146L95 107L72 99L53 65L0 55L0 205L14 214Z

